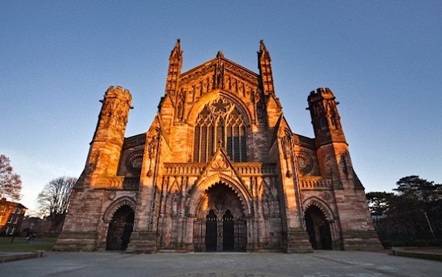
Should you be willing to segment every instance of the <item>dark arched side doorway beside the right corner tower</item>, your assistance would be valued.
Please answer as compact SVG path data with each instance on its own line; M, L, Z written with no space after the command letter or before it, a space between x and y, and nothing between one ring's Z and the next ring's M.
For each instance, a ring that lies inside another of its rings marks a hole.
M323 211L310 206L305 211L305 226L313 249L332 249L332 235L329 222Z

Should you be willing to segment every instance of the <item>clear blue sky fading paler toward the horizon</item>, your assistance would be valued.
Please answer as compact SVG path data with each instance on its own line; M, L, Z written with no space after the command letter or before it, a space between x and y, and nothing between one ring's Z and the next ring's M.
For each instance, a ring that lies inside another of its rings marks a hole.
M37 209L50 180L78 177L108 86L131 91L126 136L164 95L176 39L183 72L216 56L272 61L283 112L313 137L311 90L329 87L366 191L407 175L442 182L442 1L1 1L0 153Z

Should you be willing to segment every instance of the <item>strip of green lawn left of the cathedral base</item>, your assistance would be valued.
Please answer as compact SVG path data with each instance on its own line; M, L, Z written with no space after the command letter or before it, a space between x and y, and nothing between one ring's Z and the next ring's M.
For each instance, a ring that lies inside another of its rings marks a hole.
M26 238L15 238L11 243L11 237L0 237L0 251L51 251L57 238L35 238L30 242Z

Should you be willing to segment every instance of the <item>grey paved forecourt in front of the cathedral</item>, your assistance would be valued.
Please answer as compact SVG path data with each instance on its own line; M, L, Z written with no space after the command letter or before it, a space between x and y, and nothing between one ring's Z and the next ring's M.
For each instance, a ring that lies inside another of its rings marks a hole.
M314 254L122 254L48 252L0 263L0 276L372 277L441 276L442 262L360 251Z

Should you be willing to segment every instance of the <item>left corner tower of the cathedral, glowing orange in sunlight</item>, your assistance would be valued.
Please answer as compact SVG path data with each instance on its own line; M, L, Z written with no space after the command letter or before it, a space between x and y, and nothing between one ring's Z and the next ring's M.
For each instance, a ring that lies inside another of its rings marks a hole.
M104 99L100 100L102 110L90 142L86 166L73 189L55 250L104 250L106 233L101 230L109 225L102 220L106 209L104 200L115 198L115 191L122 187L119 186L122 178L116 176L131 101L131 93L120 86L109 87Z

